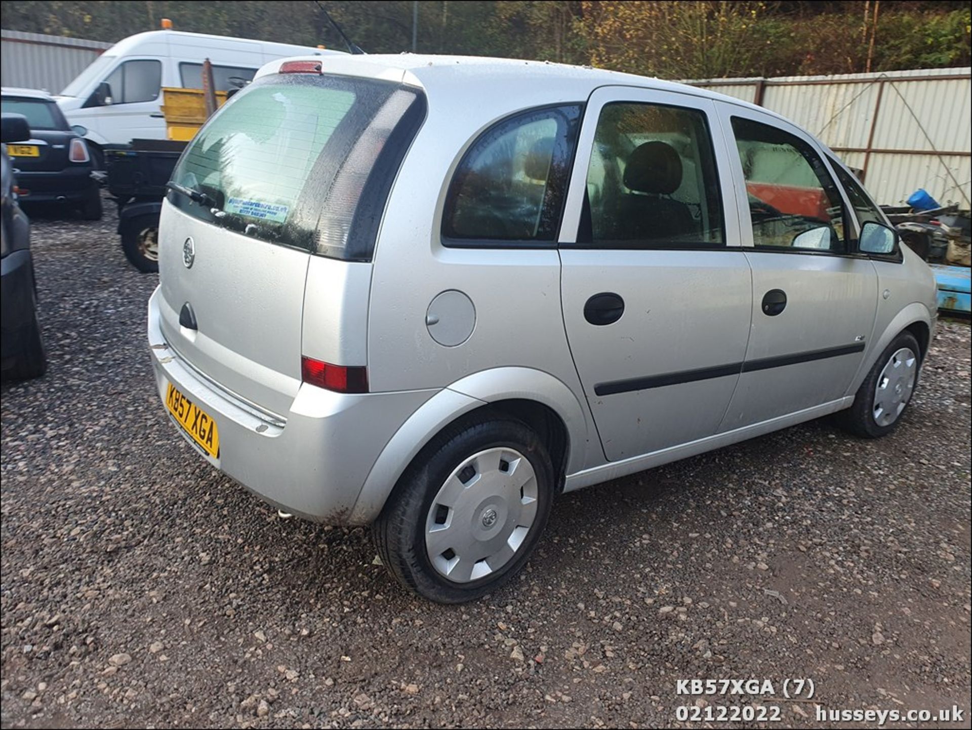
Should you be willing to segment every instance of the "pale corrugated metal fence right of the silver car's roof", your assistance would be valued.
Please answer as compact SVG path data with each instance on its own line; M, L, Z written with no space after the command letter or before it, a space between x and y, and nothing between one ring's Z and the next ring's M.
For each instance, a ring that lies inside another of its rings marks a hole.
M881 203L924 188L942 204L972 194L972 69L711 79L693 86L766 107L813 132Z

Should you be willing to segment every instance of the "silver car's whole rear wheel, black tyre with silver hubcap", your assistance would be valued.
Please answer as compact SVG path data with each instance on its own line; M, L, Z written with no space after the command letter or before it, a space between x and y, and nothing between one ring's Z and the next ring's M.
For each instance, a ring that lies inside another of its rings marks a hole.
M441 604L495 590L527 562L546 526L554 469L519 421L466 421L422 450L372 526L382 562Z

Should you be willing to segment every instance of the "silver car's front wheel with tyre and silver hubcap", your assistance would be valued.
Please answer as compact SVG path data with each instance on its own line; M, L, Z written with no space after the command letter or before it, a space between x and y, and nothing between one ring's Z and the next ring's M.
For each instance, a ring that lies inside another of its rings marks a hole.
M890 434L915 392L920 367L918 340L911 332L901 332L867 373L853 405L840 414L841 425L864 438Z

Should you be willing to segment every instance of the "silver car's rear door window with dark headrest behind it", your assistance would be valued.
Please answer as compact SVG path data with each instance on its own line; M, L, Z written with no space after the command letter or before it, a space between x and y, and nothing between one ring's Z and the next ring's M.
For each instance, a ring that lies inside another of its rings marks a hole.
M581 219L581 244L639 249L724 245L705 114L657 104L606 105L595 130L585 207L590 217L587 223L585 212Z

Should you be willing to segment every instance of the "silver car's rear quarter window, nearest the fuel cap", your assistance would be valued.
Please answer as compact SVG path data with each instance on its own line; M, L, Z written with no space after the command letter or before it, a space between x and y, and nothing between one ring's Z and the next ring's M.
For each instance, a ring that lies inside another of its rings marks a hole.
M446 195L446 246L555 245L580 106L507 118L463 156Z

